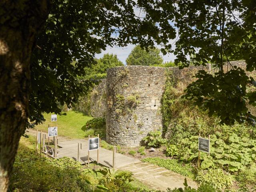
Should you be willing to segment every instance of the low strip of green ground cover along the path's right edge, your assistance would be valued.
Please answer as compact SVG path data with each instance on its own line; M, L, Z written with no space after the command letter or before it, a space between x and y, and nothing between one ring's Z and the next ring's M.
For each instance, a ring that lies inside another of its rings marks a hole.
M194 168L190 164L183 164L178 162L175 159L161 159L158 157L153 158L144 158L142 162L148 162L151 164L158 165L160 167L164 167L173 172L179 173L183 176L188 176L190 178L194 178Z

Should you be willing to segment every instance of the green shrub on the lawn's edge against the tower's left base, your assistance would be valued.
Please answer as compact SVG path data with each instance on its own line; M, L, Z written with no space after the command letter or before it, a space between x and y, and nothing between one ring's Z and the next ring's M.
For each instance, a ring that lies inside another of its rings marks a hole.
M82 127L85 131L86 136L97 136L99 134L100 138L106 137L106 120L104 118L93 118L86 122L85 126Z

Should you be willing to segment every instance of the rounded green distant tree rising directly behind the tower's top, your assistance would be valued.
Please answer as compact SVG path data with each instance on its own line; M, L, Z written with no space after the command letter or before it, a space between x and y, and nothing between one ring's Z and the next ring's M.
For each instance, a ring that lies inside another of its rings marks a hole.
M135 46L126 59L127 65L145 65L156 66L163 63L163 58L160 55L158 48L148 48L148 51L140 46Z

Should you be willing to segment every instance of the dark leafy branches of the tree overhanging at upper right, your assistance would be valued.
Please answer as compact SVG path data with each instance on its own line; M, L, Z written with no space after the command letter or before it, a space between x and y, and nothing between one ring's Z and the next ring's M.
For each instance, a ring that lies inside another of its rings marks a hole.
M179 34L176 64L186 67L210 62L220 69L215 74L199 71L185 97L208 110L210 116L220 117L221 123L255 124L246 105L256 106L256 92L247 90L256 82L246 70L256 68L256 1L182 0L175 4L174 12ZM190 60L188 55L193 55ZM245 60L246 69L234 67L229 60Z

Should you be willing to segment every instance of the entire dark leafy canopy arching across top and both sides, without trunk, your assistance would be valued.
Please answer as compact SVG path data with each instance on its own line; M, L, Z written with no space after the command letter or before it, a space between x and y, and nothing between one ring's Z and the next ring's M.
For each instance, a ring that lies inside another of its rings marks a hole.
M143 16L136 15L136 9ZM91 82L76 77L95 64L96 53L108 45L133 43L146 50L161 45L163 54L176 55L180 68L215 64L220 72L199 72L186 98L211 109L210 115L220 116L223 123L252 123L246 103L256 105L256 92L248 93L246 85L256 82L244 69L233 68L229 59L245 60L246 70L255 70L255 10L255 0L54 0L32 54L30 120L40 122L42 112L60 114L58 102L70 106L88 90ZM177 32L172 49L170 40ZM225 58L226 66L234 69L229 73L224 73Z

